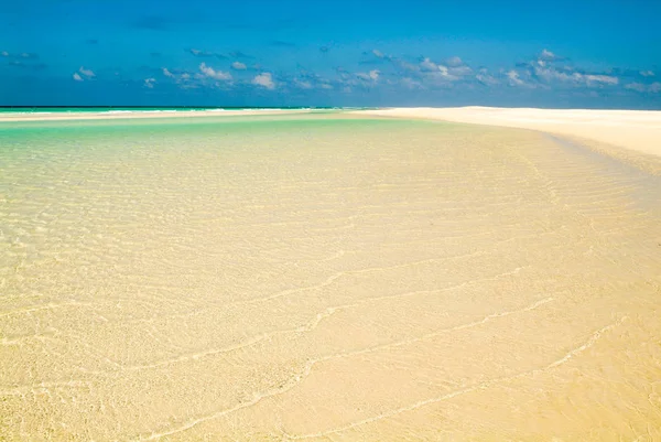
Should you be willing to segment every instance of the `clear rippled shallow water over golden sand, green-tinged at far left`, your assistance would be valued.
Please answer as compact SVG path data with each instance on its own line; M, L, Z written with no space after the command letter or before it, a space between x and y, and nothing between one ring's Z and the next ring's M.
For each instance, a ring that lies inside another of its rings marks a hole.
M0 439L661 438L658 175L516 129L177 121L3 127Z

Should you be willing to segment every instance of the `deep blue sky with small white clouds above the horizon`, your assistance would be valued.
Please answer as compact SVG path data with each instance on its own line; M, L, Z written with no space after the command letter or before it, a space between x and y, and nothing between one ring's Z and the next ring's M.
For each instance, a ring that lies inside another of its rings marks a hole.
M658 0L20 0L0 106L661 109Z

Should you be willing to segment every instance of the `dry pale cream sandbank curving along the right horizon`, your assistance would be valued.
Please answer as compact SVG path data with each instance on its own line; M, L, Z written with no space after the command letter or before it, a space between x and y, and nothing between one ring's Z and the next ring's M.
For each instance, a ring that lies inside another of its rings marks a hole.
M392 108L361 115L436 119L474 125L533 129L616 145L661 157L661 111L533 108Z

